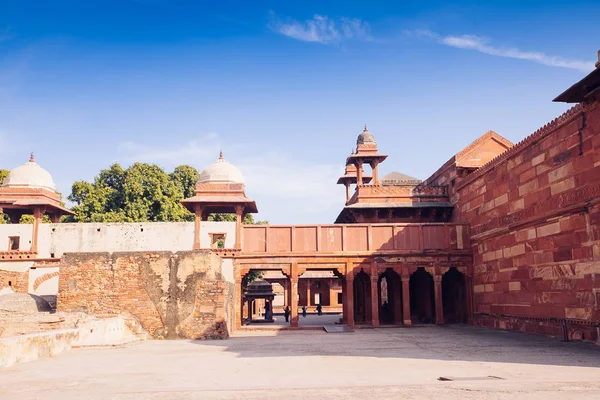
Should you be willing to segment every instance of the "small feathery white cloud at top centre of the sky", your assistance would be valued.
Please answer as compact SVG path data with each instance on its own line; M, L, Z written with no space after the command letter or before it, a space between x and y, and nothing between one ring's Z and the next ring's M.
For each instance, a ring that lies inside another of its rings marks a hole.
M345 40L370 40L369 24L357 18L332 19L326 15L315 14L312 19L301 22L293 19L285 21L271 13L268 25L273 32L303 42L336 44Z

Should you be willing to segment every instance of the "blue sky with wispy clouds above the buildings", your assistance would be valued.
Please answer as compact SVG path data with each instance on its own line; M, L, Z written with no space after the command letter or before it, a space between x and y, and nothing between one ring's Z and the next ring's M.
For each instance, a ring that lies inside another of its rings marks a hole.
M424 179L523 139L594 68L597 1L0 0L0 168L65 195L113 162L240 167L259 218L333 222L366 123ZM589 19L586 19L586 16Z

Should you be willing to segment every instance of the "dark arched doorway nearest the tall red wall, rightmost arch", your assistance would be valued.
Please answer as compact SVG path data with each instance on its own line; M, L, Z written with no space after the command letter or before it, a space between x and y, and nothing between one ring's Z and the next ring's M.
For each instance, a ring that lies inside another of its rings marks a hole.
M465 276L452 267L442 277L442 304L444 322L467 323L467 291Z

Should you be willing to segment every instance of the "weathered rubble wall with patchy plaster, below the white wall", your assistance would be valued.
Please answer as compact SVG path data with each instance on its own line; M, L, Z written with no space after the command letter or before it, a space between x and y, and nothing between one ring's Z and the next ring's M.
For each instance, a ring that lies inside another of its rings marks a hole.
M225 338L232 286L211 251L73 253L62 259L57 309L131 315L155 338Z

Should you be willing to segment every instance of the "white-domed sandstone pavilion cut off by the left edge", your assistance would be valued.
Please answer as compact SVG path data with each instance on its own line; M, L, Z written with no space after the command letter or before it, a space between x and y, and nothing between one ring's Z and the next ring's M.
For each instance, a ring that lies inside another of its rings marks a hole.
M44 215L49 215L57 223L63 215L73 215L63 207L60 194L56 192L54 181L48 171L40 167L33 153L29 162L10 171L0 186L0 212L8 215L11 223L18 224L24 214L33 214L33 234L29 252L37 254L39 226ZM9 251L20 250L20 246Z

